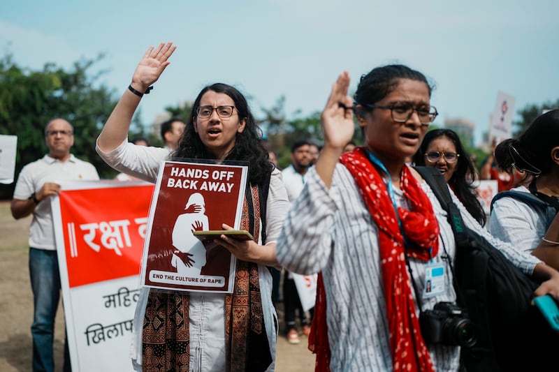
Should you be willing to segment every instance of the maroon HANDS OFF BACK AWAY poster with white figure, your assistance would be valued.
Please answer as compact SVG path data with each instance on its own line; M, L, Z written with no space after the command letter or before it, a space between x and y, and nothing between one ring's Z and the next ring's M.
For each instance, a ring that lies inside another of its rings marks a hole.
M141 283L192 292L233 292L235 256L196 230L238 230L248 167L165 161L150 208Z

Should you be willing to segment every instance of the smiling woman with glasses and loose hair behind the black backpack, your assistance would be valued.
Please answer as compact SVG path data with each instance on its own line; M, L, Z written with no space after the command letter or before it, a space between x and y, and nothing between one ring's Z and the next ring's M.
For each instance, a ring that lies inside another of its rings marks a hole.
M473 185L476 169L456 132L450 129L428 131L413 162L440 170L466 210L480 225L485 225L486 215Z

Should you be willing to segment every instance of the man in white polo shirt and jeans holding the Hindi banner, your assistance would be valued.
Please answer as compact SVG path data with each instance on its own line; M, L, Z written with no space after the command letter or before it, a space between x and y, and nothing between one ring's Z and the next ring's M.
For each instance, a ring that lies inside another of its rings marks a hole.
M99 179L91 163L70 154L73 127L53 119L45 127L49 154L24 166L17 178L10 205L15 219L33 214L29 227L29 274L33 291L33 371L54 371L55 316L60 298L60 276L52 223L50 197L60 192L59 181ZM64 348L64 371L70 371L68 345Z

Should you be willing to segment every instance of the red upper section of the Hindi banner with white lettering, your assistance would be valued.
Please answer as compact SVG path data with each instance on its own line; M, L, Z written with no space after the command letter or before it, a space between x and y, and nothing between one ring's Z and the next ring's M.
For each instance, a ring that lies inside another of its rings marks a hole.
M140 273L153 190L118 184L60 193L70 288Z

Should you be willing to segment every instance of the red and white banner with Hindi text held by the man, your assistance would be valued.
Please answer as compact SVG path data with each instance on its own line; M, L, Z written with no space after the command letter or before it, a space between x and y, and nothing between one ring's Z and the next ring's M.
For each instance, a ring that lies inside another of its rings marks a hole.
M132 322L153 189L142 181L64 181L51 200L75 372L132 370Z

